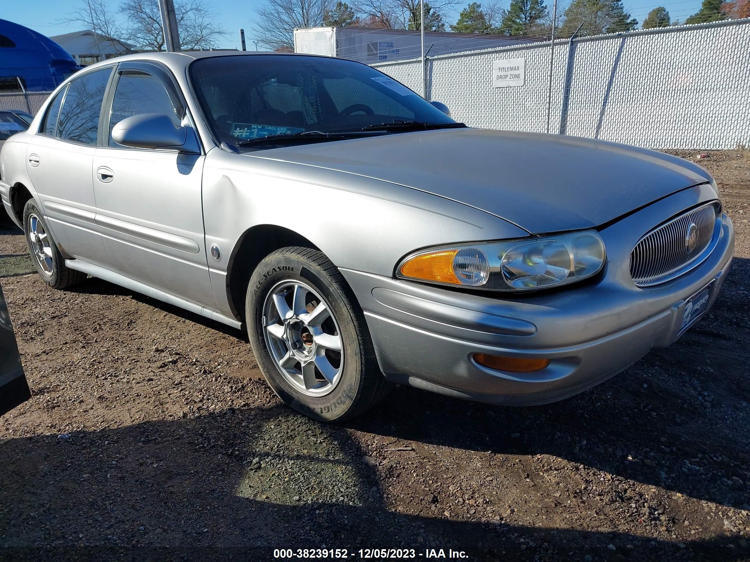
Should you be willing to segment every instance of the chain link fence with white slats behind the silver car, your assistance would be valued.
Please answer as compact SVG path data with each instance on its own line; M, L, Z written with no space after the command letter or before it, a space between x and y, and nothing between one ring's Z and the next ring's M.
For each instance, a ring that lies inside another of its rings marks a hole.
M525 62L523 85L495 88L493 63L508 59ZM422 92L420 59L373 66ZM442 55L425 71L425 97L472 127L544 133L549 104L550 133L644 148L750 145L750 19Z

